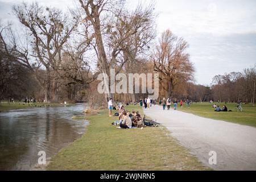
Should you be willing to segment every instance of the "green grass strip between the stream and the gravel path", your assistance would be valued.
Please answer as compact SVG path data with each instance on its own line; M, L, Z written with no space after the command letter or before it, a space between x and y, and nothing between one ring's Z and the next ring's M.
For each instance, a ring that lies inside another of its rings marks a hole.
M139 106L126 109L139 110ZM79 117L81 119L83 117ZM117 129L108 110L87 116L85 134L53 156L47 170L205 170L163 126Z

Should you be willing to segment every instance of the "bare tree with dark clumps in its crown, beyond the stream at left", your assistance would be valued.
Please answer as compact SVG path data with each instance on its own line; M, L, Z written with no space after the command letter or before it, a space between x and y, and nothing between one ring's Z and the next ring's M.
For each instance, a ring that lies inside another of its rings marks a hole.
M15 16L26 27L31 36L30 46L17 47L19 60L31 67L30 57L37 61L38 67L46 69L46 78L39 75L38 69L32 69L46 89L46 101L49 102L51 80L55 77L55 69L61 63L61 52L72 31L77 27L79 18L69 20L68 15L60 10L39 6L38 3L17 5L13 7ZM31 49L29 49L31 47ZM56 80L55 80L56 81ZM57 83L54 82L55 88Z

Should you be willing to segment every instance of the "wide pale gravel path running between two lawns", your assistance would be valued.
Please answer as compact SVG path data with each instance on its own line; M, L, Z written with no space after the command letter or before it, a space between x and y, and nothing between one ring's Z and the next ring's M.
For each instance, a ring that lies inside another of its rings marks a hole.
M216 170L256 170L256 128L199 117L182 111L162 110L155 105L144 109L171 131L192 155ZM217 164L209 164L209 152L217 154Z

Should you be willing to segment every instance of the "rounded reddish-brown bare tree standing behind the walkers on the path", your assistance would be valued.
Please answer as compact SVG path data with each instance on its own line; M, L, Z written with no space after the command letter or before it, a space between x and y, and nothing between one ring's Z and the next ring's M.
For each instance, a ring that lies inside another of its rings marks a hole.
M166 84L170 97L178 82L193 80L194 68L186 52L187 47L183 38L177 38L170 30L166 30L152 53L154 71L159 73L160 80Z

